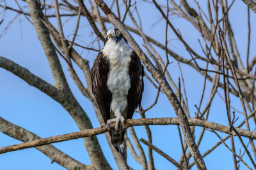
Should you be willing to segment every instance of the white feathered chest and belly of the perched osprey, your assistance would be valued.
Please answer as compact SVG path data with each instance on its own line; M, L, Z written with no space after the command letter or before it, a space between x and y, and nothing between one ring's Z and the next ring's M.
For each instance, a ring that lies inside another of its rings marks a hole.
M127 43L109 43L102 52L109 59L107 85L112 93L111 110L122 113L127 106L127 94L131 88L128 71L132 48Z

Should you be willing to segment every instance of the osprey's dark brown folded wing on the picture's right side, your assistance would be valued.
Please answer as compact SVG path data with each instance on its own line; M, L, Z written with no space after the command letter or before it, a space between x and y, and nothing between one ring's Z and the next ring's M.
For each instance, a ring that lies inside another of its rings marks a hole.
M135 109L140 106L142 93L144 90L144 69L138 55L133 51L129 63L129 76L131 78L131 89L128 91L127 119L131 119Z

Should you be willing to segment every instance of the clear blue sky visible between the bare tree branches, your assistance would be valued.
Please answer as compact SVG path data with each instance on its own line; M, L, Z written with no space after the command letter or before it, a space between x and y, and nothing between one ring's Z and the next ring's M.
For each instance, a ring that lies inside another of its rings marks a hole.
M3 2L0 2L3 4ZM25 6L25 3L21 3L21 6ZM200 3L205 3L204 1L200 1ZM18 9L17 4L8 1L7 4L9 6L13 6L13 8ZM86 6L89 6L88 3L85 3ZM193 6L194 4L191 3ZM203 4L204 5L204 4ZM164 29L165 22L161 20L157 22L157 24L152 27L152 24L156 20L160 18L159 11L154 10L151 4L143 3L142 1L138 1L137 4L138 10L141 12L141 22L143 24L143 31L164 43ZM154 11L154 12L152 12ZM124 11L121 11L124 13ZM16 13L11 11L6 11L5 20L2 25L0 25L0 30L3 31L8 21L12 20L15 17ZM146 17L147 16L147 17ZM232 24L232 28L235 32L235 38L237 40L237 44L239 46L239 53L241 54L242 59L246 60L246 46L247 46L247 7L243 4L242 1L235 1L234 6L230 9L230 23ZM255 13L251 11L251 20L255 20ZM20 21L22 23L20 24ZM65 20L68 20L65 22ZM154 20L154 22L152 22ZM185 20L170 16L170 20L173 25L181 32L183 38L188 41L188 44L198 53L202 54L202 50L200 49L199 44L197 43L197 39L202 38L200 34L193 28L191 24L188 24ZM55 18L51 19L52 22L56 22ZM70 19L63 18L64 32L65 36L72 34L74 31L76 18ZM132 24L131 20L127 18L127 25ZM252 30L252 43L250 50L250 59L255 55L256 48L255 46L255 23L251 22L251 30ZM86 18L81 19L81 25L79 29L79 36L77 37L77 43L81 43L81 45L88 45L95 39L95 36L90 36L92 29L88 26L88 22ZM113 28L112 25L107 24L108 29ZM185 56L187 59L190 59L189 54L186 52L184 46L177 41L174 33L170 28L168 32L168 39L173 39L170 41L168 47L172 49L174 52L179 53L182 56ZM0 32L1 32L0 31ZM68 37L70 39L70 37ZM134 38L141 45L143 41L141 38L134 35ZM196 43L195 43L196 42ZM142 47L142 46L141 46ZM97 52L88 52L88 50L83 50L82 48L76 47L77 52L81 54L82 57L90 60L90 66L92 66L92 61L97 55ZM159 50L156 48L157 52L160 55L165 56L163 50ZM40 42L36 38L36 32L33 25L31 25L24 16L20 15L20 17L15 20L15 22L11 25L10 29L6 34L4 34L0 39L0 55L6 57L10 60L13 60L20 66L26 67L31 71L31 73L36 74L40 78L48 81L52 85L54 84L54 80L52 78L51 70L49 68L47 59L44 55L44 51L42 50L42 46ZM163 57L165 59L165 57ZM92 121L93 127L99 127L99 122L97 122L97 118L94 114L92 104L88 99L86 99L79 90L77 89L74 82L72 82L69 73L67 71L67 64L63 59L61 60L61 64L63 66L63 70L65 71L65 75L67 77L68 83L72 92L76 96L77 100L84 108L88 117ZM175 82L178 81L180 76L179 67L177 61L170 57L170 60L173 61L168 67L168 70L172 74L173 80ZM202 93L202 86L204 82L204 78L200 76L194 69L185 64L181 64L182 71L184 73L184 79L186 83L186 90L188 94L189 100L189 109L191 112L191 116L193 117L193 113L196 111L194 107L195 104L199 104L200 96ZM85 83L83 78L83 73L74 66L79 74L79 77ZM35 89L35 87L29 86L26 82L13 75L12 73L0 68L0 116L4 119L12 122L13 124L19 125L25 129L28 129L31 132L34 132L38 136L42 138L46 138L49 136L55 136L58 134L66 134L69 132L79 131L77 125L74 120L68 115L67 111L65 111L62 106L51 99L51 97L46 96L39 90ZM203 101L203 107L208 101L209 92L211 90L211 83L207 81L207 89L205 92L205 99ZM223 95L223 91L219 90ZM156 89L148 83L145 78L145 92L143 94L142 106L147 108L150 104L154 103L156 97ZM236 106L238 110L241 110L241 106L239 104L239 100L235 97L232 97L231 101L233 106ZM160 94L159 101L157 105L150 111L148 111L147 117L176 117L173 111L172 106L168 102L168 99L164 94ZM239 115L239 122L243 120L243 115ZM133 118L140 118L138 113L134 113ZM211 106L210 121L218 122L223 125L227 125L227 116L225 113L225 105L221 101L220 97L216 95L213 100L213 104ZM238 123L237 123L238 124ZM253 129L254 127L252 127ZM134 127L137 132L138 138L147 139L147 135L144 127ZM158 148L163 150L165 153L170 155L173 159L179 160L181 153L181 146L179 142L179 136L177 133L176 125L152 125L150 126L153 136L153 144ZM201 128L196 128L196 134L200 134ZM225 134L221 134L221 136L225 136ZM113 169L117 169L115 164L115 160L111 155L111 151L108 147L104 134L97 136L100 141L100 145L102 146L102 150L106 155L106 159L108 159L109 164L113 167ZM0 133L0 147L13 145L16 143L20 143L20 141L10 138L3 133ZM202 145L200 145L200 152L204 153L206 150L211 148L216 142L218 138L212 134L211 132L206 131L205 136L202 141ZM244 139L247 143L247 139ZM230 141L227 141L228 145L230 145ZM90 164L90 159L86 153L86 150L83 146L83 139L76 139L72 141L65 141L62 143L53 144L56 148L61 151L67 153L74 159L79 160L84 164ZM145 148L145 153L147 155L147 147L141 144L143 148ZM239 142L236 143L236 148L239 150L241 145ZM157 169L175 169L175 167L168 162L168 160L159 156L156 152L153 153L154 161ZM233 160L232 154L225 148L223 145L219 146L214 152L205 157L205 164L208 169L230 169L233 168ZM244 157L244 160L250 164L248 157ZM59 166L55 162L51 164L51 160L46 157L44 154L36 150L35 148L29 148L26 150L20 150L16 152L4 153L0 155L1 169L64 169ZM141 169L140 164L134 161L131 156L128 156L128 164L131 165L134 169ZM195 169L195 167L194 167ZM241 164L241 169L245 169L243 164Z

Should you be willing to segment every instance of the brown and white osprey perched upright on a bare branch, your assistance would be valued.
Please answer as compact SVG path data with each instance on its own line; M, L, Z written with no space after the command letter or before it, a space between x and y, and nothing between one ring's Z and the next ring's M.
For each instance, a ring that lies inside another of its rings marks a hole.
M141 103L144 90L143 66L118 29L107 32L104 48L92 67L92 92L105 124L116 122L111 143L118 150L125 132L118 132L119 122L131 119Z

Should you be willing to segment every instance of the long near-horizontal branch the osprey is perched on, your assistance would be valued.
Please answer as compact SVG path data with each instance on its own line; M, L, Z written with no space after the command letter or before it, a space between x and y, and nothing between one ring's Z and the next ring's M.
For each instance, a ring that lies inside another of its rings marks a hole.
M127 120L125 122L125 126L119 125L120 129L119 131L125 131L128 127L132 126L140 126L140 125L180 125L179 118L138 118L133 120ZM205 127L208 129L212 129L215 131L223 132L226 134L230 134L232 136L236 136L236 133L234 131L230 132L230 127L217 124L214 122L210 122L207 120L200 120L198 118L189 118L188 119L189 126L200 126ZM237 127L234 127L236 131L240 134L240 136L249 138L249 139L256 139L256 132L252 131L246 131L244 129L240 129ZM90 136L95 136L98 134L102 134L108 131L112 131L115 129L115 123L111 124L110 127L107 127L107 125L102 125L100 127L94 128L94 129L88 129L85 131L80 132L73 132L69 134L63 134L58 136L52 136L49 138L42 138L38 139L36 141L30 141L26 143L20 143L17 145L12 146L6 146L3 148L0 148L0 154L6 153L6 152L13 152L15 150L22 150L25 148L32 148L36 146L42 146L42 145L48 145L51 143L58 143L61 141L68 141L72 139L78 139L78 138L87 138Z

